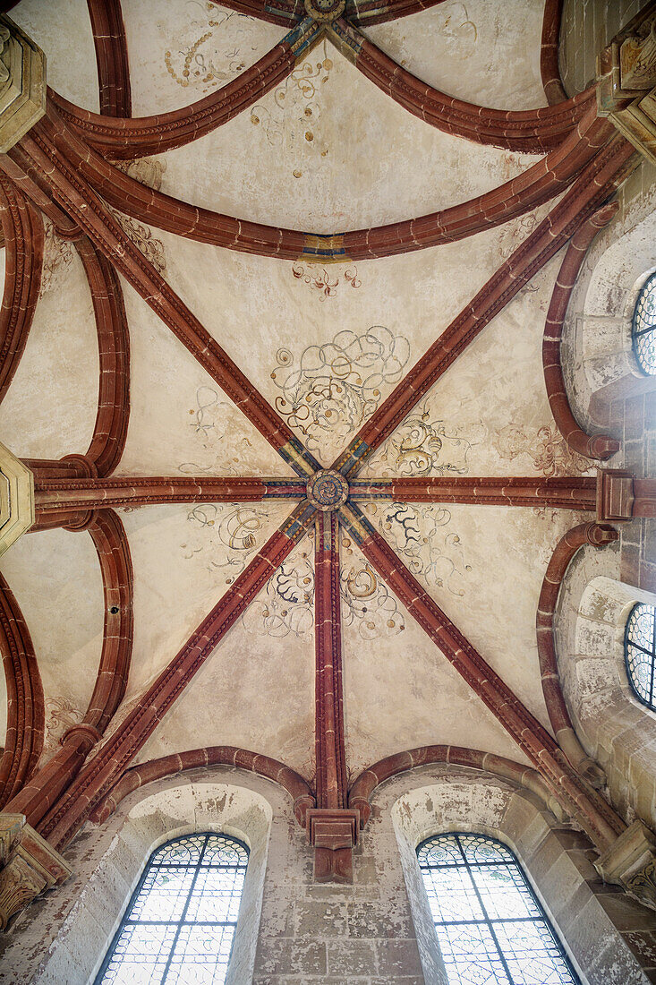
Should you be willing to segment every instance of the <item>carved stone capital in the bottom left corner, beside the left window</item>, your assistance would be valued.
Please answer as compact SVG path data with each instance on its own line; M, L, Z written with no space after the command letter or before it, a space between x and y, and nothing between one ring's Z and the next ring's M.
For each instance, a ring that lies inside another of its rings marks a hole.
M0 814L0 866L0 930L72 871L23 814Z

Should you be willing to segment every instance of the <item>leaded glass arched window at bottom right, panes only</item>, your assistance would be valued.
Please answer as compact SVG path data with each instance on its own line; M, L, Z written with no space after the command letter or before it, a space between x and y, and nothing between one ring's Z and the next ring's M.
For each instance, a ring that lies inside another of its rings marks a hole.
M417 849L449 985L578 985L512 852L482 834Z

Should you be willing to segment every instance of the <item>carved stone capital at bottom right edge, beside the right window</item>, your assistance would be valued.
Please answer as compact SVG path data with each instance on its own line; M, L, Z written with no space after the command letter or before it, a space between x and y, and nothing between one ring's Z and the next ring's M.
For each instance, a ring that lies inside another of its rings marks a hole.
M623 886L629 896L656 910L656 834L642 821L633 821L595 868L607 883Z

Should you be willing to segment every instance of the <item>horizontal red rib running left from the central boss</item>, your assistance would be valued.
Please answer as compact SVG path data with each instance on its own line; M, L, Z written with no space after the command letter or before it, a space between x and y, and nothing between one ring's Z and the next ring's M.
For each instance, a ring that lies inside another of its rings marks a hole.
M166 502L261 502L267 498L302 499L303 480L223 479L210 476L112 476L110 479L34 477L37 522L62 510L105 506L145 506Z

